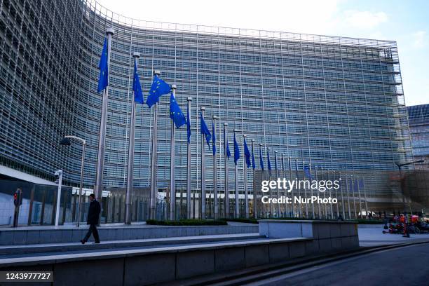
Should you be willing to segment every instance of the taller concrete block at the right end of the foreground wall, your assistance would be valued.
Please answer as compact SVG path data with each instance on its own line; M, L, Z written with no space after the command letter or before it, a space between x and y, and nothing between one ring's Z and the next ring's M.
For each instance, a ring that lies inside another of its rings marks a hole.
M359 247L355 222L262 219L259 221L259 234L266 238L313 238L307 243L306 254Z

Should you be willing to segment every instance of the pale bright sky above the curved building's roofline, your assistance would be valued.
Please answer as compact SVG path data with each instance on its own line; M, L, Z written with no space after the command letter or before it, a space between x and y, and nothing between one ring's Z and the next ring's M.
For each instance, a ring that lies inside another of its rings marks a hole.
M139 20L397 41L407 106L429 104L426 0L97 1Z

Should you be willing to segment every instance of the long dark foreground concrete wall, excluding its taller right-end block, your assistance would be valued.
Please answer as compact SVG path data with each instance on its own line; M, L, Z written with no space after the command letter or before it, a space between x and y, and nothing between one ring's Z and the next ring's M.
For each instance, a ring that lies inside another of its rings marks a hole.
M255 240L130 250L116 254L66 254L45 261L13 259L0 271L53 271L53 285L151 285L198 275L229 272L306 255L306 238ZM15 264L15 266L14 266ZM42 264L42 265L40 265ZM34 266L32 266L34 265Z

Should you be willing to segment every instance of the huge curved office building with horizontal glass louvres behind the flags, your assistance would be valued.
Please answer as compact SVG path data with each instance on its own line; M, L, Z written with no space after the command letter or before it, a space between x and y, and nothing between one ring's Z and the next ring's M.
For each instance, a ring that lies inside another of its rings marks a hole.
M81 144L61 146L64 135L86 139L83 185L86 196L92 192L102 107L102 93L97 93L98 62L107 28L113 28L114 34L103 179L106 222L124 218L134 52L140 54L138 71L145 98L154 70L160 70L167 83L177 85L177 102L185 114L186 99L192 97L191 189L196 197L201 185L201 107L205 107L210 130L212 116L217 116L221 199L225 191L224 123L228 123L232 150L233 129L239 130L240 146L243 134L249 145L254 139L257 169L260 147L264 163L268 150L272 164L277 151L279 165L284 156L292 160L293 170L295 163L300 171L311 163L311 172L318 168L320 173L397 171L396 162L412 161L395 41L135 20L90 0L1 0L2 224L8 223L11 194L17 188L23 189L22 208L28 213L20 218L22 222L49 224L56 190L53 172L59 169L64 172L63 190L67 190L62 197L62 220L76 219L73 194L81 178ZM158 104L156 189L161 203L170 188L169 100L165 95ZM136 114L132 212L133 220L142 220L147 218L154 114L146 104L137 104ZM186 192L184 127L175 136L178 197ZM205 184L207 198L212 198L213 164L207 150ZM241 149L240 198L243 157ZM229 173L232 196L232 159ZM252 198L252 174L247 173ZM377 201L389 190L365 183L367 203L378 210ZM211 204L208 199L209 216Z

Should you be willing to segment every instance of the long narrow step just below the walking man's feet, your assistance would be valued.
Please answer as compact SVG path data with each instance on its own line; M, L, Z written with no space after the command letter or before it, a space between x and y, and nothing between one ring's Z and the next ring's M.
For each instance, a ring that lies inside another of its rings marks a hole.
M214 243L230 240L252 240L257 238L265 238L259 233L238 233L228 235L211 235L211 236L179 236L171 238L151 238L137 240L109 240L102 241L100 244L86 243L82 245L76 243L43 243L34 245L1 245L0 255L11 254L30 254L30 253L46 253L46 252L67 252L79 250L102 250L109 248L124 248L124 247L147 247L158 245L187 245L191 243ZM3 257L1 257L3 258Z

